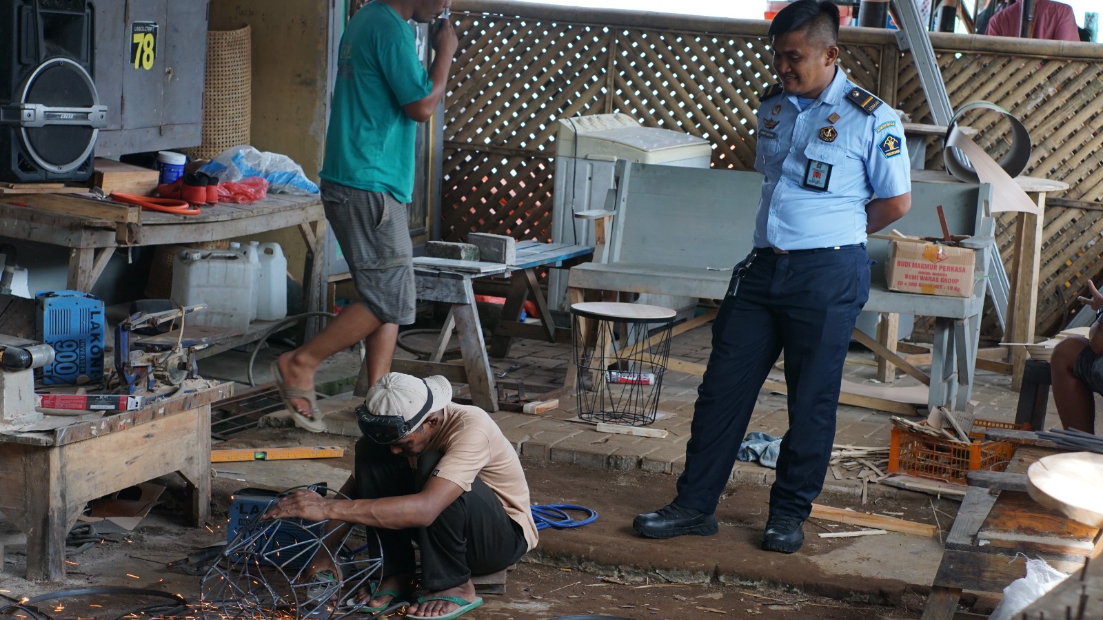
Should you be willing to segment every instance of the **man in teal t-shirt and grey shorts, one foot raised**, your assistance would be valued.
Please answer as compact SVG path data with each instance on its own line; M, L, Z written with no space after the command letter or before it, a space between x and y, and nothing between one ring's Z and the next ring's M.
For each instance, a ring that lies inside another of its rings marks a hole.
M414 322L413 245L406 203L414 191L417 124L432 116L448 86L456 30L433 23L436 57L428 73L407 20L430 22L451 0L375 0L341 36L333 107L325 135L322 202L349 261L360 303L353 303L309 342L281 355L272 376L298 426L318 419L314 372L330 355L364 340L367 385L390 372L398 325Z

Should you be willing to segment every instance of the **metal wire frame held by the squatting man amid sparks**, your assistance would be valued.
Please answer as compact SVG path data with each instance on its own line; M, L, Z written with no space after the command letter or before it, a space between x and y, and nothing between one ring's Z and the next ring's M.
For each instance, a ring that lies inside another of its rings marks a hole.
M312 488L295 487L274 496L238 530L203 576L203 618L332 620L358 612L362 605L347 606L345 601L383 576L378 534L371 527L330 520L264 519L269 507L297 489ZM315 559L340 567L340 580L312 582L308 569Z

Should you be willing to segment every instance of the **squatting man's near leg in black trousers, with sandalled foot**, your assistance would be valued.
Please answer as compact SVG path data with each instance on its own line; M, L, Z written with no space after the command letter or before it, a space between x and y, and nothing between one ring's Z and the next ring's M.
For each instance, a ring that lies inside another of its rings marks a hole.
M431 475L440 460L439 452L426 452L418 460L417 482L420 487ZM475 478L471 491L464 492L440 513L437 521L419 532L421 552L421 585L427 597L453 596L471 601L475 598L471 575L502 570L528 549L524 532L505 513L497 495L481 479ZM417 616L451 613L459 605L433 600L411 610Z

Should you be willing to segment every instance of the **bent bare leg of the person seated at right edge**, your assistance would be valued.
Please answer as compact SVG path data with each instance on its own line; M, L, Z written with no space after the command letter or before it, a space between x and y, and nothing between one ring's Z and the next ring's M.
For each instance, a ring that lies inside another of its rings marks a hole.
M1095 393L1103 393L1103 355L1096 355L1088 340L1071 336L1053 349L1049 365L1061 425L1095 432Z

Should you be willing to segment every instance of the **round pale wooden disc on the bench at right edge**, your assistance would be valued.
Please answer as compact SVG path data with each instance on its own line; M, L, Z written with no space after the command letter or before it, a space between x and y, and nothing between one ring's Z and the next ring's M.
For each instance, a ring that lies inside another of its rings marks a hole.
M1039 504L1091 527L1103 527L1103 455L1065 452L1027 469L1027 492Z

